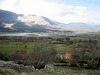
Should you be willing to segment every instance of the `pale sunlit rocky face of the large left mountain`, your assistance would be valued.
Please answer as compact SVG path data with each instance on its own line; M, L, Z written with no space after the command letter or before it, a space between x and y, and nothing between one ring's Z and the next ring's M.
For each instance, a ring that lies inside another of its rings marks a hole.
M49 21L46 21L42 16L36 15L23 15L18 16L18 21L25 22L25 23L32 23L33 25L49 25L51 24Z

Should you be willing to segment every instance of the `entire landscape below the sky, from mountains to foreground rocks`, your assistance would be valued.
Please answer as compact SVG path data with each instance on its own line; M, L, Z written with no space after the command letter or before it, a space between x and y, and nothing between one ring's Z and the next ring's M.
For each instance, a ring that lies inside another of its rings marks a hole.
M0 9L0 75L14 73L99 75L100 25Z

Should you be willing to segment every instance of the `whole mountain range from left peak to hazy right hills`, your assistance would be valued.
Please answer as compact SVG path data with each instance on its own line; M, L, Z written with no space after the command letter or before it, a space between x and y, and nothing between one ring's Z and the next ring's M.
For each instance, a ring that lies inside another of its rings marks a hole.
M34 31L100 31L100 25L81 22L64 24L52 21L44 16L16 14L0 10L0 32L34 32Z

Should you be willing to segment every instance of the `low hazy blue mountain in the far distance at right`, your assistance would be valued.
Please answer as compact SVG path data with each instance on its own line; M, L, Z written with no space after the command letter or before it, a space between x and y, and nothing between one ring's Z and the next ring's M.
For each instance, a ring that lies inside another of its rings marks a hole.
M100 31L100 25L89 25L81 22L69 23L63 26L64 30Z

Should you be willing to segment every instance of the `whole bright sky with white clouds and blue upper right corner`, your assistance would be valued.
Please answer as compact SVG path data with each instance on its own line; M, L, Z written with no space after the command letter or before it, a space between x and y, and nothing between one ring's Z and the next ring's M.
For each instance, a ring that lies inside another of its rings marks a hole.
M100 0L0 0L0 9L45 16L66 24L100 25Z

